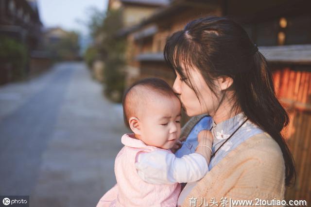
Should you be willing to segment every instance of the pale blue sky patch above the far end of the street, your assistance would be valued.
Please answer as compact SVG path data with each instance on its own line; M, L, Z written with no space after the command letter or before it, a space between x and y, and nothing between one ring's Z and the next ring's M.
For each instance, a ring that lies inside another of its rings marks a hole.
M56 27L87 35L85 24L87 9L96 7L105 11L108 0L37 0L40 19L44 27Z

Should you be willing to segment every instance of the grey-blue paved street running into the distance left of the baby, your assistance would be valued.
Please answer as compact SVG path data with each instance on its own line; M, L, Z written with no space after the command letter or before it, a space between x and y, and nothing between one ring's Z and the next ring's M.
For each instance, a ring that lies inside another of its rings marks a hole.
M121 104L82 63L57 64L0 87L0 195L30 195L31 207L94 207L115 183Z

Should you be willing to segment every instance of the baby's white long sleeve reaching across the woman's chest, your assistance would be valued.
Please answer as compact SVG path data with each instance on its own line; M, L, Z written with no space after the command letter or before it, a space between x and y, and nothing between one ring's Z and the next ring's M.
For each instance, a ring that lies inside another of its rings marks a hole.
M139 177L152 184L188 183L206 175L208 165L199 153L175 157L164 150L138 154L135 163Z

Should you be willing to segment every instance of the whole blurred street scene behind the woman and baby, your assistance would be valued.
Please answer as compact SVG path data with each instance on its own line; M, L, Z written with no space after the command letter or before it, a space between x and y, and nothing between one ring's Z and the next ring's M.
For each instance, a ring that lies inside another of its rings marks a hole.
M310 0L0 0L0 195L34 207L92 207L116 183L130 132L121 97L159 77L167 36L192 19L239 22L273 72L290 115L283 130L297 182L287 200L311 202ZM189 117L183 114L183 123Z

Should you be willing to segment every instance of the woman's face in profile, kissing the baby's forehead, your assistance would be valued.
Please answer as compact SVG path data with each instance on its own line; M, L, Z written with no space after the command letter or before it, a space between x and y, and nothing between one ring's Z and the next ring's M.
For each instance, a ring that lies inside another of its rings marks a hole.
M181 65L181 67L184 70L183 65ZM178 94L183 109L188 116L196 116L203 113L209 115L214 114L219 104L219 100L209 89L203 76L197 69L191 68L189 69L189 72L190 77L187 77L187 80L182 80L180 75L176 72L176 79L173 84L173 90ZM194 90L187 85L186 82L189 82L189 79L193 87L196 89L201 102L195 95ZM217 90L218 89L216 88L216 92Z

